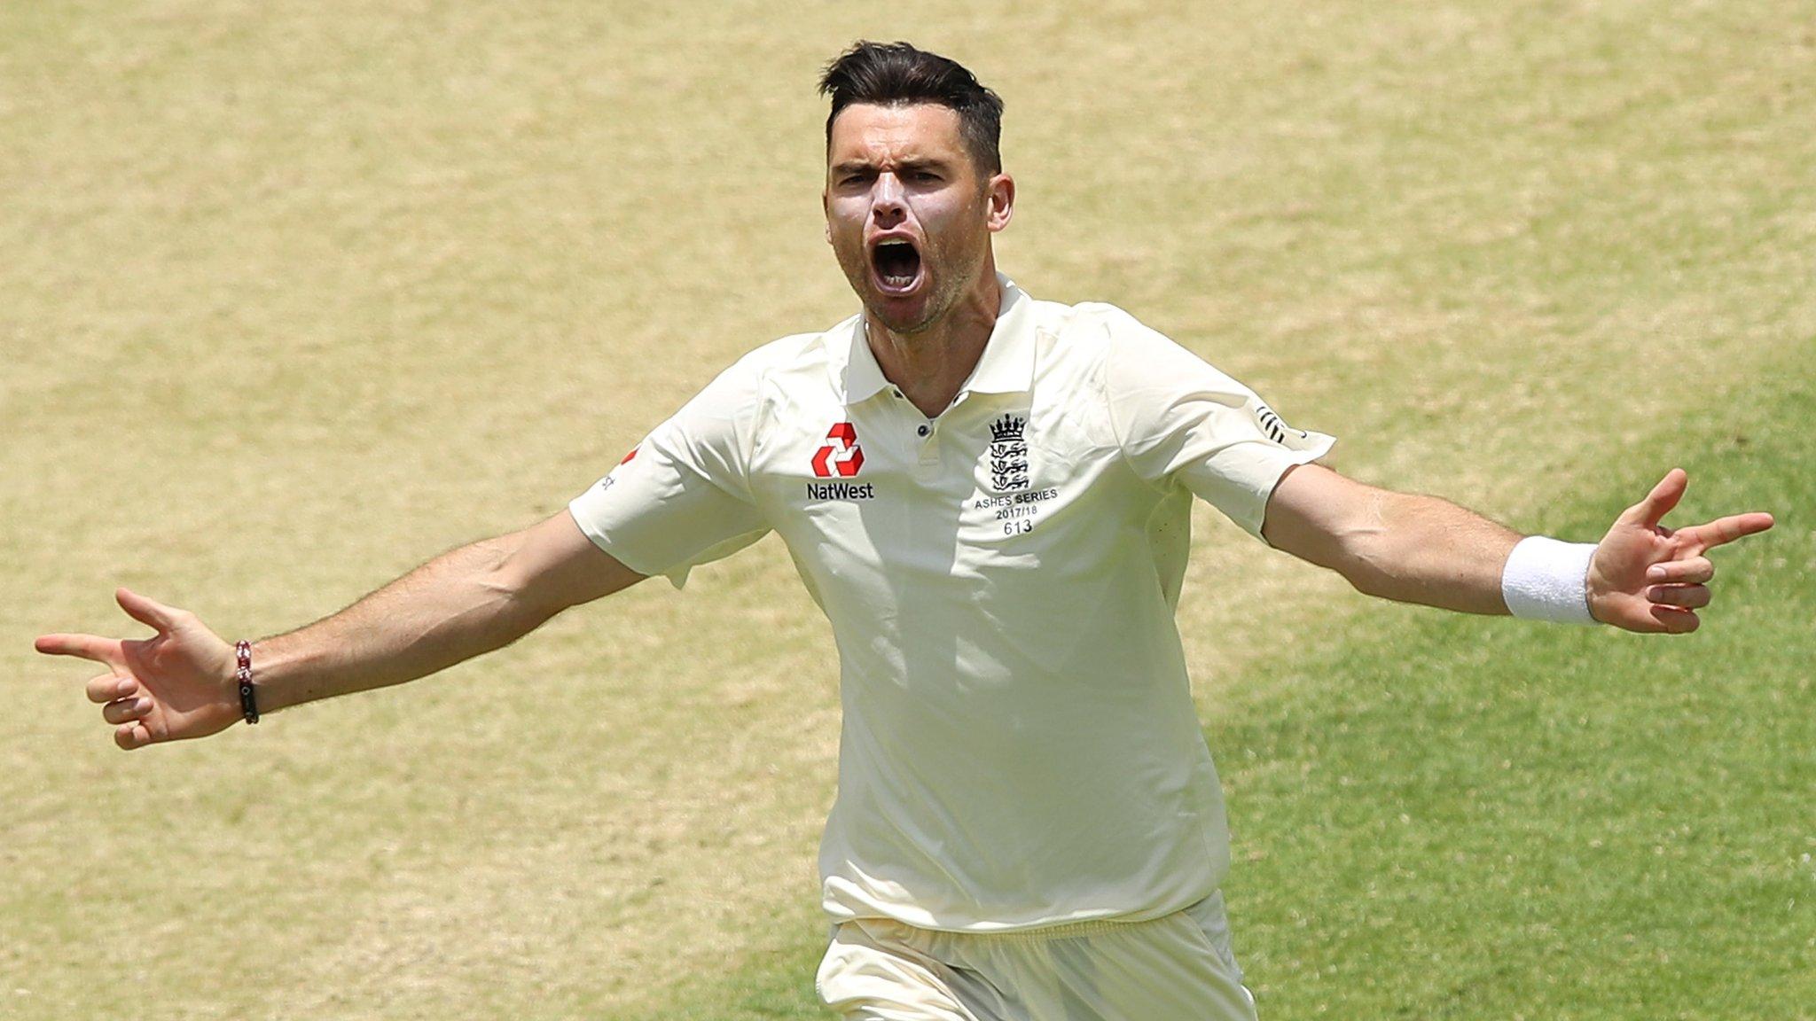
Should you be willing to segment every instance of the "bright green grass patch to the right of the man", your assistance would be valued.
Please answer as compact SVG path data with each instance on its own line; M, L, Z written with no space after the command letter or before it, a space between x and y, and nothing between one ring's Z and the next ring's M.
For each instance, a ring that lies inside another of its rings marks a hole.
M1816 1003L1816 356L1660 438L1671 521L1769 509L1689 638L1416 612L1211 725L1239 952L1278 1017L1807 1017ZM1540 514L1598 536L1662 474ZM1718 1006L1714 1006L1718 1005Z

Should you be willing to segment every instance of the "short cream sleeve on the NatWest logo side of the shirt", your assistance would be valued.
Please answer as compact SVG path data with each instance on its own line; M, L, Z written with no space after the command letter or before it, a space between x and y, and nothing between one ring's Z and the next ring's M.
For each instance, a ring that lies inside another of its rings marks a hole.
M666 574L730 556L770 530L748 483L759 374L726 369L623 461L568 503L587 538L637 574Z

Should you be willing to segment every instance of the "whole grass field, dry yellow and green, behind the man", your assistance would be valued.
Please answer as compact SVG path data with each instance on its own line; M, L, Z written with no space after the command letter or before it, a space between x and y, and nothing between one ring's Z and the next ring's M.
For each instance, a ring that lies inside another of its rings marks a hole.
M1816 5L0 7L0 1017L817 1017L835 659L774 540L122 756L44 630L283 630L837 322L817 67L1008 100L999 256L1594 538L1778 514L1682 639L1369 603L1200 516L1264 1017L1816 1017Z

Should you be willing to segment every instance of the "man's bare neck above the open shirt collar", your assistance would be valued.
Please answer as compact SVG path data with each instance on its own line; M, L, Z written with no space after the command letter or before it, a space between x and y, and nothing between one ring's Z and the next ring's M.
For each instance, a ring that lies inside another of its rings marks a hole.
M864 336L870 340L877 367L883 369L883 378L895 383L921 414L937 418L952 407L959 387L984 356L1001 307L995 260L984 260L977 282L953 302L952 309L946 309L946 314L908 334L864 316Z

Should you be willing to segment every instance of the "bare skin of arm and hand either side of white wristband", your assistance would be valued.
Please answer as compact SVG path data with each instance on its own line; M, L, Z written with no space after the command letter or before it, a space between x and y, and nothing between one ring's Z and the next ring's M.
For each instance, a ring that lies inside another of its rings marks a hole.
M1703 554L1772 527L1771 514L1663 527L1687 485L1673 469L1596 545L1585 578L1594 620L1642 632L1696 630L1714 578ZM1289 469L1275 485L1262 536L1369 596L1471 614L1507 612L1502 572L1522 538L1446 500L1375 489L1322 465Z

